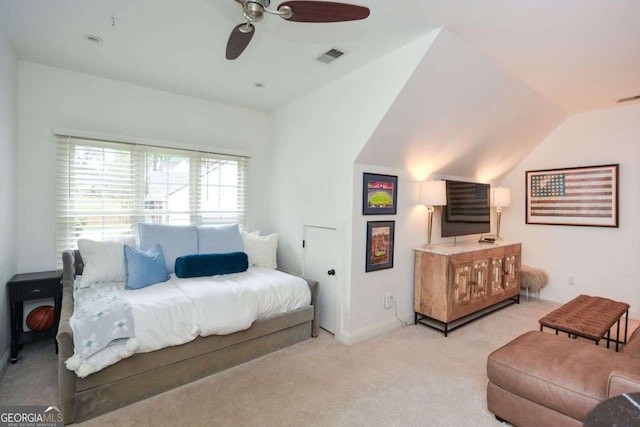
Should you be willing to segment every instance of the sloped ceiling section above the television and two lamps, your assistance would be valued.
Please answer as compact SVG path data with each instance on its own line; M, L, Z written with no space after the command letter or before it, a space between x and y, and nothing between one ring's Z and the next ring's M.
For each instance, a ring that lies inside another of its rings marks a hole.
M440 30L357 162L498 182L567 113Z

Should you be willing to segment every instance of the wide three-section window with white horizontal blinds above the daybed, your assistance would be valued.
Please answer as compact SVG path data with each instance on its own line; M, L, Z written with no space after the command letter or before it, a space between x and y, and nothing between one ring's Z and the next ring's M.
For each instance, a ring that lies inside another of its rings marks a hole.
M57 152L58 252L139 222L245 225L247 157L69 136Z

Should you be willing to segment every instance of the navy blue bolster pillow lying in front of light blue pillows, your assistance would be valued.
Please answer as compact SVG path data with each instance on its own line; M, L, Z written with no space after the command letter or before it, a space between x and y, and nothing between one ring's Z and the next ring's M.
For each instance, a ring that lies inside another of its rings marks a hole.
M176 259L175 272L180 278L215 276L247 271L249 257L244 252L194 254Z

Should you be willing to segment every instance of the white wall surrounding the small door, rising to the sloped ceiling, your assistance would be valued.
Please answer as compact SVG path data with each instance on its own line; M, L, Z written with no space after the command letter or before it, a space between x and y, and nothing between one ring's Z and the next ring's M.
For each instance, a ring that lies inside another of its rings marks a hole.
M344 309L337 316L336 337L341 340L351 327L354 161L436 34L307 94L272 116L271 219L281 236L278 260L282 267L301 272L303 225L338 229L336 287L338 308Z

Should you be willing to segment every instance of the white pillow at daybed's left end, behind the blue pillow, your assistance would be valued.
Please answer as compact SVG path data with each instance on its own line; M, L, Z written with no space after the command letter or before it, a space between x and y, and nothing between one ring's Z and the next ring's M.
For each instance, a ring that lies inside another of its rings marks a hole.
M135 238L98 242L78 240L78 249L84 263L83 286L101 282L124 282L127 279L124 265L124 245L135 245Z

